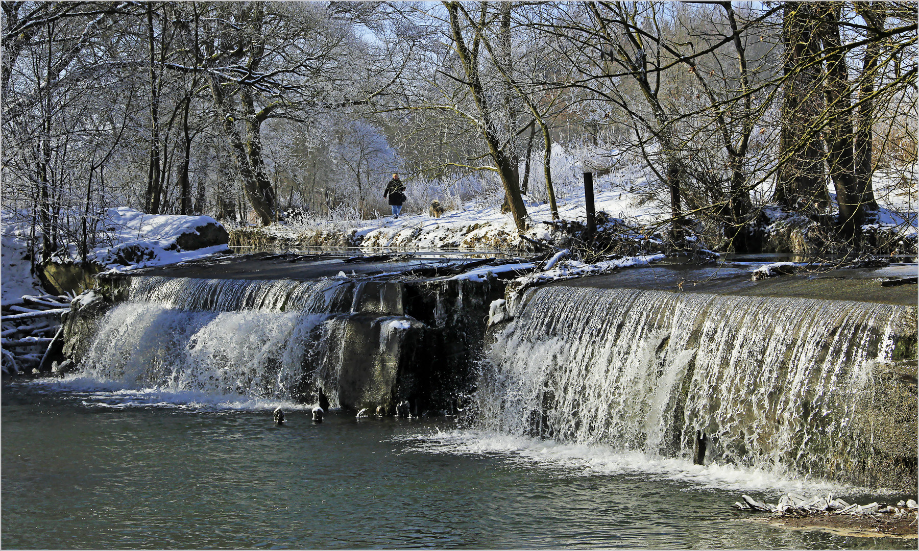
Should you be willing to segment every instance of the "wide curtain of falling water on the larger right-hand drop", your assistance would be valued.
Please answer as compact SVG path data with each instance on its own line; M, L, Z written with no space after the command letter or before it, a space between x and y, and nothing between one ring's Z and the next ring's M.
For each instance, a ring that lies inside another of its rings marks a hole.
M906 311L541 287L496 335L473 410L485 430L832 478L858 461L849 425Z

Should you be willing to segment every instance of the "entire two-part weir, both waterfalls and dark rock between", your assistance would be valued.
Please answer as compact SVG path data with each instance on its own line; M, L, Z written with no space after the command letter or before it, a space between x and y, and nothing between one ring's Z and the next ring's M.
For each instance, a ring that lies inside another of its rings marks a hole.
M121 388L387 414L468 405L488 431L915 488L914 298L898 287L886 303L867 277L844 282L876 302L761 296L780 286L751 287L744 269L715 292L611 287L686 276L670 271L517 301L495 278L117 276L74 301L64 354ZM497 298L515 306L486 331Z

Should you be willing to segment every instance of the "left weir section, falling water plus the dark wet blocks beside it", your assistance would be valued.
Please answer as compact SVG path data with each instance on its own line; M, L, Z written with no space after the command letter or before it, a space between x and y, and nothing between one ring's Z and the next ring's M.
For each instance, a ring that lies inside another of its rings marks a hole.
M481 349L481 314L501 292L469 286L125 277L109 284L113 301L74 303L64 353L127 388L437 413L469 391L466 353Z

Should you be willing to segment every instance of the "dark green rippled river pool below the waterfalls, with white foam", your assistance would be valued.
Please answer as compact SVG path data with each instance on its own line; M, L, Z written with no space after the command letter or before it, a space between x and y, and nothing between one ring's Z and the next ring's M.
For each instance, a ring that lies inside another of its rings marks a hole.
M751 523L742 493L801 488L763 474L271 409L5 382L3 547L915 548Z

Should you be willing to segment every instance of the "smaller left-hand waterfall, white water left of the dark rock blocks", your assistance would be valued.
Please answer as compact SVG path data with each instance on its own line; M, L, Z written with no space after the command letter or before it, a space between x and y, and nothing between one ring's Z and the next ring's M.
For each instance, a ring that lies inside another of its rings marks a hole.
M132 277L81 376L206 399L316 403L323 388L335 407L341 347L332 350L330 335L360 289L346 280Z

